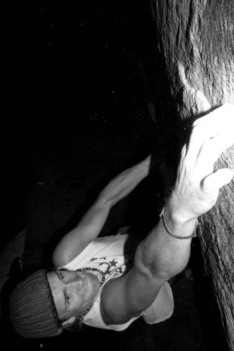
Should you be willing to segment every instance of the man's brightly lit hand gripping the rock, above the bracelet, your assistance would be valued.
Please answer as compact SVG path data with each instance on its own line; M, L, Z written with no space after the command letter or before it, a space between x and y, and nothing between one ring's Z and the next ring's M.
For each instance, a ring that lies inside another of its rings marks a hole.
M176 220L196 218L215 205L219 188L232 180L234 172L225 168L214 173L214 163L233 143L233 104L225 104L194 122L189 145L182 149L176 186L169 200Z

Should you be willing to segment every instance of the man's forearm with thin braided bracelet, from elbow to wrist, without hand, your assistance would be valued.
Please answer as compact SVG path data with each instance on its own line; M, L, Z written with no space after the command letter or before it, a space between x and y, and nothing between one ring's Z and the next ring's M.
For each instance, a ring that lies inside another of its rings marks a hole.
M166 206L164 218L173 234L184 237L193 234L196 218L186 222L178 220L170 207L170 201ZM156 227L139 244L135 265L150 279L168 280L186 266L190 256L191 240L191 238L177 239L169 235L160 218Z

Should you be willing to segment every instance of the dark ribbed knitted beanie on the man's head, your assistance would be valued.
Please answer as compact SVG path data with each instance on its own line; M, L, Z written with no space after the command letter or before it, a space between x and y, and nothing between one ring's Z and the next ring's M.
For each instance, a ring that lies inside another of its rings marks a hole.
M11 323L21 336L39 338L62 332L46 273L41 270L30 275L12 292Z

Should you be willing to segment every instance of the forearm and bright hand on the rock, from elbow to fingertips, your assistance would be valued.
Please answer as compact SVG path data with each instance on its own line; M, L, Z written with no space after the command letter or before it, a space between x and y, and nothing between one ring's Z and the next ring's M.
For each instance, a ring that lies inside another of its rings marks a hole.
M226 104L198 118L189 144L184 145L172 195L165 209L165 222L178 236L190 236L196 219L209 211L217 200L218 190L233 178L233 171L214 173L220 153L234 143L234 105ZM190 255L191 238L169 235L162 218L139 245L135 264L152 278L168 280L179 273Z

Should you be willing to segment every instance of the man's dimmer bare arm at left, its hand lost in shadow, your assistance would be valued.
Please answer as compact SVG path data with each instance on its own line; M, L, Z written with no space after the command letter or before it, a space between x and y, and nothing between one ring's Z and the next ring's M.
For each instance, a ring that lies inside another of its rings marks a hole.
M101 191L95 203L81 218L78 225L67 233L57 245L52 261L55 267L71 262L100 233L110 209L127 196L150 171L150 159L125 170Z

